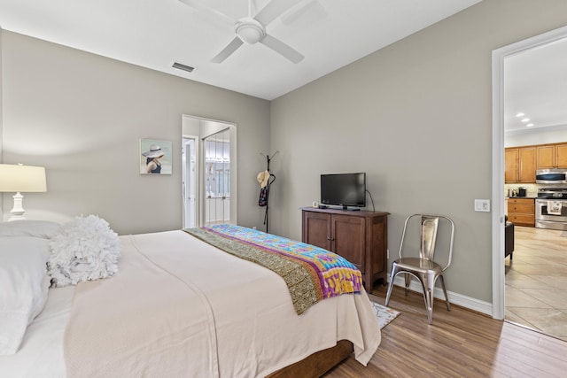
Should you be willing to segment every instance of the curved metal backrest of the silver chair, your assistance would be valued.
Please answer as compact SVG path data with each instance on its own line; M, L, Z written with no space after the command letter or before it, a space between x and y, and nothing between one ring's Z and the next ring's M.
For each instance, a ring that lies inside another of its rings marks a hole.
M435 249L437 247L437 235L439 231L439 219L447 220L449 224L450 238L447 243L447 265L443 267L443 270L447 269L451 265L451 258L453 256L453 241L454 241L454 222L445 215L433 215L433 214L413 214L408 216L404 222L404 230L401 235L400 242L400 258L402 258L402 250L404 248L404 241L406 239L406 234L408 230L409 221L414 218L420 218L420 244L419 244L419 258L433 260L435 255ZM445 244L444 244L445 245Z

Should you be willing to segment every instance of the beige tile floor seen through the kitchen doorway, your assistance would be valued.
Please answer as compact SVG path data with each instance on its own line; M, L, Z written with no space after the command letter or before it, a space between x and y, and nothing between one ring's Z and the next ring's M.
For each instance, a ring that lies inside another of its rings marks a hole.
M505 260L506 320L567 340L567 231L515 228Z

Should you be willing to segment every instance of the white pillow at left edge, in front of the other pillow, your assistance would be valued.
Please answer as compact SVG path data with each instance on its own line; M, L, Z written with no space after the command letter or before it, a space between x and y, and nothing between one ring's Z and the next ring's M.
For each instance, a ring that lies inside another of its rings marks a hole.
M0 355L18 351L27 325L43 310L49 253L48 239L0 237Z

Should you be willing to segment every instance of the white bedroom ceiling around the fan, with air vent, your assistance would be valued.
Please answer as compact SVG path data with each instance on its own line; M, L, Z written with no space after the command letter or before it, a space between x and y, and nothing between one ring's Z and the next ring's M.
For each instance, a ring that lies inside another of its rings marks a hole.
M248 14L247 0L198 1L230 19ZM252 0L252 14L269 1ZM178 0L0 0L0 27L272 100L479 1L283 0L291 8L266 30L305 56L298 64L260 43L211 63L234 26Z

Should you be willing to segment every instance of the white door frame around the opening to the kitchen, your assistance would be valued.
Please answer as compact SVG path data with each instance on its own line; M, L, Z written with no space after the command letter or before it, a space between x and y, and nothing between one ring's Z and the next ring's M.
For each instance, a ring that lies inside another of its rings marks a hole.
M504 319L504 59L567 38L567 27L493 50L493 318Z

